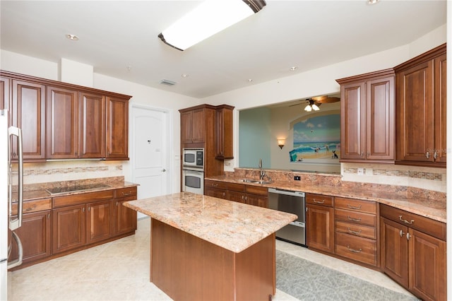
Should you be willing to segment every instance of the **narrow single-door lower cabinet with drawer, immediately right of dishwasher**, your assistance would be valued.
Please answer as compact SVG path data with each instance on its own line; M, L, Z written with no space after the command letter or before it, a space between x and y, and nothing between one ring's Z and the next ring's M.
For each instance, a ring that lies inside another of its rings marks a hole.
M306 194L306 238L309 249L334 253L333 196Z

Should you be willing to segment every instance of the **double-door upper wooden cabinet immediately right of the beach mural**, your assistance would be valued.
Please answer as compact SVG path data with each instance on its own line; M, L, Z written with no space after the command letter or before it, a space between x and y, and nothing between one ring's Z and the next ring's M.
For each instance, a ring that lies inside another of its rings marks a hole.
M341 161L391 163L395 159L394 71L386 69L340 83Z

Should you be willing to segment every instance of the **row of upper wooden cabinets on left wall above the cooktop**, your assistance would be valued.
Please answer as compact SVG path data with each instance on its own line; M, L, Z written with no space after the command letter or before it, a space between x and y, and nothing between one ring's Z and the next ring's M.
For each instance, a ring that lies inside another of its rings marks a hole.
M5 71L0 95L22 129L25 160L129 160L130 96Z

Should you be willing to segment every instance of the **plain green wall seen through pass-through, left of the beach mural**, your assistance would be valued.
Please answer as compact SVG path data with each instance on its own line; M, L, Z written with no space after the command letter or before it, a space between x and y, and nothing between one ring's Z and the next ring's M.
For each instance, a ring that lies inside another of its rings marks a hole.
M260 107L239 112L239 167L270 168L270 109Z

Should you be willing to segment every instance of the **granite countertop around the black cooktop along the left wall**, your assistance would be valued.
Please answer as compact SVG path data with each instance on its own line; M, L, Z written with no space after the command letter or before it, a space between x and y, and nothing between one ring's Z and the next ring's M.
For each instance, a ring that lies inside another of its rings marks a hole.
M86 181L89 184L93 184L93 181ZM83 181L77 181L77 184L81 184ZM77 190L77 191L69 191L59 194L50 194L47 189L55 188L55 187L66 187L71 186L73 182L52 182L52 183L43 183L43 184L32 184L32 185L25 185L24 191L23 191L23 201L30 201L30 200L36 200L36 199L47 199L52 198L56 196L70 196L74 194L85 194L88 192L95 192L95 191L105 191L105 190L111 190L111 189L121 189L121 188L127 188L127 187L136 187L138 184L126 182L124 179L117 179L117 177L114 178L105 178L105 179L96 179L95 183L102 183L107 184L106 187L97 187L95 189L86 189L86 190ZM17 191L13 191L13 202L17 201L18 194Z

